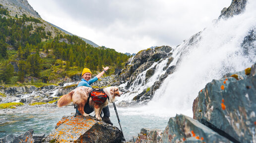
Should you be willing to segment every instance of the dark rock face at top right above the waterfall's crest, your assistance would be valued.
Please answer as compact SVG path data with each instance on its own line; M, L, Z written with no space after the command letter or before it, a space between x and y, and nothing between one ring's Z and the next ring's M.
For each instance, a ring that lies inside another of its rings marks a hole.
M247 0L232 0L228 8L223 8L219 18L229 18L238 15L245 10Z

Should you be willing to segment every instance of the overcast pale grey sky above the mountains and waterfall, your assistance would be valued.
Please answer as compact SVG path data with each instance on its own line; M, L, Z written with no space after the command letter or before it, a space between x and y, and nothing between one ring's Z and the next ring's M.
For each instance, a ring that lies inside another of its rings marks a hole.
M203 30L231 0L28 0L41 17L100 46L137 53L176 46Z

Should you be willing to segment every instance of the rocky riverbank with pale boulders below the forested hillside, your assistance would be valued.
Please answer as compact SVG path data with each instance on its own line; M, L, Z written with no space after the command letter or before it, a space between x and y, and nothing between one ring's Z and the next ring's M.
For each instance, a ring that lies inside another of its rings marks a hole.
M117 76L111 75L100 78L99 81L92 84L93 88L103 88L116 85ZM57 100L75 89L76 82L60 83L59 85L48 85L43 87L29 86L0 86L0 104L5 103L23 103L24 105L42 105L56 106ZM6 109L8 110L8 109Z

